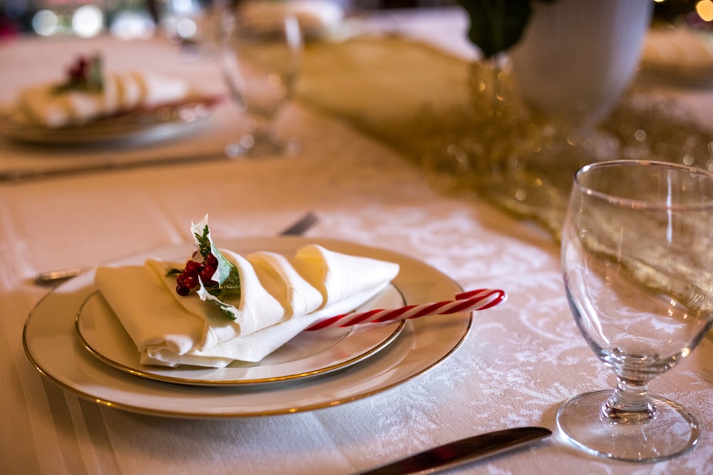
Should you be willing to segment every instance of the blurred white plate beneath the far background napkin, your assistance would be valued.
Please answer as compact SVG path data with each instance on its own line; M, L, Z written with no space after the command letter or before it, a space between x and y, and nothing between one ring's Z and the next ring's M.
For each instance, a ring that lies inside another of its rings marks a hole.
M91 145L116 140L154 142L185 134L207 118L216 103L215 98L205 98L144 113L127 113L85 125L58 128L43 127L24 120L8 108L0 113L0 131L11 140L42 145Z

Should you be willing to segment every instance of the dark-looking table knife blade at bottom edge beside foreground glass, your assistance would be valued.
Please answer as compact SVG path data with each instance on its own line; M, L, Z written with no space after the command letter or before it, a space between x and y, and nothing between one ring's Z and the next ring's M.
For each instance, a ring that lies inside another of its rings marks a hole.
M433 473L436 469L451 468L484 456L514 449L552 434L545 427L514 427L487 432L474 437L456 440L429 449L405 459L382 465L376 469L359 472L357 475L404 475Z

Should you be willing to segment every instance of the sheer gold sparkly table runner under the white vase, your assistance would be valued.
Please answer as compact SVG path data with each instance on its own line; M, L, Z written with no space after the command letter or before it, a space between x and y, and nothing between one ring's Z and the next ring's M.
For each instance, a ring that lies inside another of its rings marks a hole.
M560 125L526 111L504 75L496 92L506 100L498 100L493 112L488 94L496 89L487 66L408 38L310 44L303 68L300 100L384 140L449 189L478 194L537 221L555 240L573 174L586 163L607 153L704 168L712 160L710 134L671 113L672 105L647 98L641 82L590 137L578 141L565 136L567 131L560 134ZM603 154L597 148L602 145ZM647 259L657 259L655 246L650 249L651 255L642 253L642 261L632 266L645 270ZM646 276L642 283L655 291L670 283L665 273L633 273ZM712 286L713 274L707 274L697 283L700 288ZM665 289L683 301L686 291Z

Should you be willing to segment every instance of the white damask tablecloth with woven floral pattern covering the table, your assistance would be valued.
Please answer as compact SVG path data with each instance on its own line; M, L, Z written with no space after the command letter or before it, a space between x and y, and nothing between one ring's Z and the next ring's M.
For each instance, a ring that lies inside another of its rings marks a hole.
M461 57L475 54L457 9L382 16L373 25L421 34ZM0 44L0 103L24 84L51 78L75 52L94 50L118 68L150 67L222 90L215 62L186 61L158 39L21 38ZM0 140L0 170L219 153L242 123L226 105L192 133L165 143L78 150ZM548 234L476 198L443 192L393 147L300 101L284 111L278 128L297 137L299 155L0 183L1 473L349 474L490 430L555 429L555 412L565 400L612 386L612 373L585 345L570 315L558 245ZM297 414L136 414L58 387L26 357L26 317L48 292L33 283L39 271L95 266L188 242L188 224L207 212L216 239L237 239L274 235L307 210L320 218L308 238L398 251L462 288L506 289L508 301L476 313L461 347L429 372L354 402ZM702 436L692 451L657 464L631 464L583 454L555 434L449 473L713 473L713 343L705 339L651 390L699 419Z

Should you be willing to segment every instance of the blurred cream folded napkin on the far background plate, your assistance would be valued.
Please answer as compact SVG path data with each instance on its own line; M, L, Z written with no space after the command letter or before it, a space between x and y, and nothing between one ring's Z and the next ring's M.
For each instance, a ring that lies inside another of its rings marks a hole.
M56 83L44 83L22 90L14 108L18 118L44 127L82 125L120 112L180 103L190 94L183 80L138 72L106 73L98 92L58 93L55 88Z

